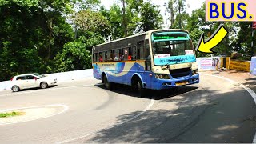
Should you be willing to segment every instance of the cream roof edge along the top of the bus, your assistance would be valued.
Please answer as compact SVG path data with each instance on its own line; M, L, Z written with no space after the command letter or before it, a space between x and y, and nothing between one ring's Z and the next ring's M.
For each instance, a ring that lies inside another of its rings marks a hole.
M141 33L141 34L134 34L134 35L131 35L129 37L125 37L125 38L119 38L117 40L114 40L114 41L111 41L111 42L105 42L105 43L102 43L102 44L99 44L99 45L96 45L94 47L97 47L97 46L103 46L103 45L106 45L106 44L109 44L109 43L112 43L112 42L118 42L118 41L122 41L124 39L128 39L128 38L134 38L134 37L138 37L140 35L144 35L144 34L150 34L152 32L160 32L160 31L171 31L171 30L174 30L174 31L183 31L183 32L186 32L186 33L189 33L187 30L181 30L181 29L166 29L166 30L150 30L150 31L146 31L144 33Z

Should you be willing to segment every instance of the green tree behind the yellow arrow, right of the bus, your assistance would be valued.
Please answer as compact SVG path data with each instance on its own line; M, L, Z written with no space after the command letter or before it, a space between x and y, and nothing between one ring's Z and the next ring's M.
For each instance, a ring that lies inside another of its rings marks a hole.
M190 36L193 40L194 47L198 45L199 38L203 33L205 40L210 37L211 34L214 34L215 30L218 29L218 26L222 23L224 24L226 30L228 30L228 35L224 40L214 48L214 51L217 52L215 55L227 54L230 55L233 50L232 43L236 41L236 30L234 27L237 26L236 22L206 22L206 11L205 4L201 6L198 10L193 10L191 17L188 21L187 30L190 31ZM209 56L210 54L197 53L198 57Z

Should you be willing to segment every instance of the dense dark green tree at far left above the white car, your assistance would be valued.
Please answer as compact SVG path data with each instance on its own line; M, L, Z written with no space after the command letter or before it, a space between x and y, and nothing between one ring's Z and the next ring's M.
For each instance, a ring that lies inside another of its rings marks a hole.
M0 0L0 80L14 74L50 72L50 60L73 30L63 14L69 0Z

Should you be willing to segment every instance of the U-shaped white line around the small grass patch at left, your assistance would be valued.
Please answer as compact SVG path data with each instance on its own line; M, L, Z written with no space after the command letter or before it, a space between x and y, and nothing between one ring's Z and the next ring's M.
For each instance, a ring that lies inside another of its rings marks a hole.
M30 122L30 121L34 121L34 120L38 120L38 119L42 119L42 118L53 117L55 115L65 113L66 110L69 110L69 106L66 106L66 105L63 105L63 104L52 104L52 105L44 105L44 106L18 107L18 108L0 110L0 112L13 111L13 110L23 110L23 109L33 109L33 108L48 107L48 106L62 106L62 107L64 107L64 109L62 111L56 113L56 114L51 114L51 115L48 115L46 117L41 117L41 118L34 118L34 119L27 120L27 121L22 121L22 122ZM10 125L10 124L15 124L15 123L21 123L21 122L9 122L9 123L3 123L3 124L0 123L0 126L1 125Z

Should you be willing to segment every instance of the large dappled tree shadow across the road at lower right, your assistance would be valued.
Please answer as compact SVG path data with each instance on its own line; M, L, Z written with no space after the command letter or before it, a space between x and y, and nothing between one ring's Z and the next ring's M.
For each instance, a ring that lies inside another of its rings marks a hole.
M114 126L98 131L83 142L252 142L256 108L245 90L221 93L195 87L182 88L182 91L190 90L190 93L180 93L180 98L158 101L158 106L162 102L174 102L177 110L148 110L132 121L130 119L142 111L120 115ZM129 90L114 90L119 91L130 94Z

